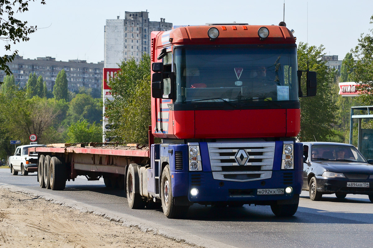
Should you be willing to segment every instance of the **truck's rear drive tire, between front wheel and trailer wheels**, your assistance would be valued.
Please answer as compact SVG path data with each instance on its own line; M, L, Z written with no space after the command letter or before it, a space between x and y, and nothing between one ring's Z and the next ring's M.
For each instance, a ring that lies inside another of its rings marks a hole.
M128 206L131 209L143 209L145 207L144 199L142 199L140 193L135 193L135 189L140 187L140 185L136 185L138 178L137 164L130 164L127 171L126 193Z

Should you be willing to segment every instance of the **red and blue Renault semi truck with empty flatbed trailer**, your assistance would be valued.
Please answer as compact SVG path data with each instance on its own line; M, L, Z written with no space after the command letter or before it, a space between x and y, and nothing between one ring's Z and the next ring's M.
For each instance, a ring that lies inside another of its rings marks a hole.
M103 177L126 189L131 208L162 205L167 218L194 203L294 215L303 71L292 32L283 23L179 26L151 33L151 62L149 145L34 148L40 186L63 190L78 175ZM305 96L314 96L316 73L305 72Z

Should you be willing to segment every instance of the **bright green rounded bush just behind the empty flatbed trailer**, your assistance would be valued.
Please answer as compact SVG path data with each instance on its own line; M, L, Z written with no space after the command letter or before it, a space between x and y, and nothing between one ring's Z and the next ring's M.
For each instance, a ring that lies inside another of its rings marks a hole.
M88 123L87 120L78 120L68 127L68 143L101 142L102 126Z

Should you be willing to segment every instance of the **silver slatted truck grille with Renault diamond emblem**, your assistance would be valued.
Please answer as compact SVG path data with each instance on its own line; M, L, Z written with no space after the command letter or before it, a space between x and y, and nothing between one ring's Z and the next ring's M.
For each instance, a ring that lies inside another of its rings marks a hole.
M207 143L216 180L254 181L272 177L275 142Z

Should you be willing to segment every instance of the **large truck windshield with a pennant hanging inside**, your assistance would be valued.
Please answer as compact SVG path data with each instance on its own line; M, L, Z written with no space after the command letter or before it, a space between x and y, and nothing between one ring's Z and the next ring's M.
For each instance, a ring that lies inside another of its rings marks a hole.
M295 46L175 48L176 103L299 101Z

